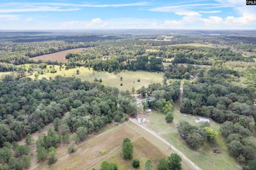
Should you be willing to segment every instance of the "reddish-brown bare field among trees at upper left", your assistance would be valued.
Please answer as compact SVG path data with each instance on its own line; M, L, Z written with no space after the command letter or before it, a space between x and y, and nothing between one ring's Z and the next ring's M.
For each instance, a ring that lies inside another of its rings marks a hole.
M32 59L34 60L52 60L52 61L60 61L60 62L67 62L68 59L66 59L66 54L70 52L75 52L75 51L82 51L84 48L74 48L70 50L65 50L65 51L60 51L57 53L52 53L52 54L45 54L45 55L39 55L36 57L33 57Z

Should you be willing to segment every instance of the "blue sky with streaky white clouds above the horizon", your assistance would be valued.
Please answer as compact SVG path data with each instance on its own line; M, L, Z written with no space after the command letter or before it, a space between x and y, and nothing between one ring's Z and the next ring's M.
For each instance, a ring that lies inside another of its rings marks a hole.
M6 1L1 30L256 29L245 0Z

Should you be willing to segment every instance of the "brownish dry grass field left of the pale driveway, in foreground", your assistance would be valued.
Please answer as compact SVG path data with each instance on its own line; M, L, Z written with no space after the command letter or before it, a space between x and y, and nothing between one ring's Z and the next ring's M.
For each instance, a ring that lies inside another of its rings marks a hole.
M56 163L49 166L47 161L36 163L36 160L33 159L31 169L98 169L103 160L116 163L120 170L134 169L132 161L124 160L121 156L122 140L125 137L132 140L133 158L138 158L141 163L141 167L138 169L144 169L148 159L153 162L153 167L156 169L159 159L166 158L173 152L161 140L140 126L127 122L118 126L110 125L100 133L91 135L85 142L78 144L77 151L73 154L67 154L67 145L61 145L57 149L58 161ZM100 149L106 149L106 155L101 155ZM182 168L191 169L183 162Z

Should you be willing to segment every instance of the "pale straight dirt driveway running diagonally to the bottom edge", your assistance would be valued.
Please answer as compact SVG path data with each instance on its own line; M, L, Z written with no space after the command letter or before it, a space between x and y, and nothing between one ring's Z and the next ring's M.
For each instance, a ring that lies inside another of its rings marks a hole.
M186 161L188 163L188 165L196 170L202 170L201 168L199 168L196 164L193 163L193 161L191 161L190 159L188 159L181 151L179 151L178 149L176 149L175 147L173 147L173 145L171 145L169 142L167 142L166 140L164 140L162 137L158 136L156 133L150 131L148 128L142 126L141 124L139 124L135 119L130 118L130 121L137 124L138 126L140 126L141 128L145 129L145 131L151 133L152 135L154 135L155 137L157 137L159 140L163 141L165 144L169 145L169 147L174 150L175 152L177 152L180 157L182 158L182 160Z

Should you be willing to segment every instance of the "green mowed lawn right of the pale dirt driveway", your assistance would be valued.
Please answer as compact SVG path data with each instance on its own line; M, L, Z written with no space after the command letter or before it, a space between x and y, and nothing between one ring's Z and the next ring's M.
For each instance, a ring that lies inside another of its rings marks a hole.
M174 147L183 152L191 161L202 169L242 169L242 167L239 166L235 159L228 153L225 139L221 136L219 131L220 124L211 120L211 128L217 130L219 133L216 140L214 142L205 142L201 148L193 150L181 139L178 133L177 124L180 121L185 120L189 122L189 124L199 127L199 124L195 122L195 119L198 118L198 116L181 114L178 106L175 106L173 116L173 123L167 124L165 122L164 114L159 111L153 111L149 114L147 127L162 136L166 141L173 144ZM221 153L213 153L212 148L219 148Z

